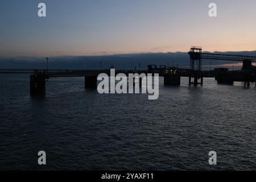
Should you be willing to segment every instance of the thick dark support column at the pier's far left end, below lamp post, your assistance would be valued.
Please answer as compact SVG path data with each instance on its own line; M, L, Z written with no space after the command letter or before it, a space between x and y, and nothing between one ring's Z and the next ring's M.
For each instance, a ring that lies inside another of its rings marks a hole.
M46 76L44 74L30 75L30 94L41 96L46 94Z

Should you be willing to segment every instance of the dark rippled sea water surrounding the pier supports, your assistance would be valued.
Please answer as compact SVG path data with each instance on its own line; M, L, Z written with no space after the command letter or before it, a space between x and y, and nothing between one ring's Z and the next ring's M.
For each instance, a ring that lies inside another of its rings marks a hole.
M0 83L0 169L256 169L255 84L181 78L173 87L160 78L150 101L85 90L84 78L51 78L44 98L30 97L29 75Z

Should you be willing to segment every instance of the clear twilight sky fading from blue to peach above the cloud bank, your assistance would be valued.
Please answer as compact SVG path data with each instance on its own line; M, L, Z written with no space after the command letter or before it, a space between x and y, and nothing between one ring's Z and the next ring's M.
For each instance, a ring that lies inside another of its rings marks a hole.
M253 51L255 17L255 0L1 0L0 56Z

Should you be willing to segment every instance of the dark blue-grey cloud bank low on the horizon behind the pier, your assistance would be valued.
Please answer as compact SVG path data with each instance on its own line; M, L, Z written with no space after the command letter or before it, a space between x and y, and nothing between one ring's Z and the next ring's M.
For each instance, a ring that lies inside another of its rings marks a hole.
M109 69L114 64L117 69L139 68L147 69L148 64L170 65L172 63L180 68L185 68L189 64L189 55L187 52L167 52L167 53L126 53L110 55L109 52L102 52L101 56L55 56L49 59L49 68L51 69L99 69L101 62L102 68ZM245 52L214 52L230 55L255 56L256 51ZM203 60L205 69L212 63L212 67L232 67L232 65L241 66L241 63L235 61L221 60ZM28 68L45 69L46 59L44 57L0 57L0 67L6 69Z

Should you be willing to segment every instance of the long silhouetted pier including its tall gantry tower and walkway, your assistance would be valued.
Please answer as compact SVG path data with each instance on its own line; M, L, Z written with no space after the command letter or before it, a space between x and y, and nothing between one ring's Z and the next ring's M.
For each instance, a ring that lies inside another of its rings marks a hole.
M203 85L204 77L215 77L218 84L233 84L234 82L244 82L245 87L249 87L251 82L256 83L256 67L252 63L256 62L256 56L241 56L241 55L224 55L216 53L203 53L201 47L191 47L188 52L190 57L189 69L181 69L177 67L166 67L166 65L148 65L146 70L115 70L115 75L124 73L126 76L129 73L147 74L158 73L164 77L164 85L180 85L180 77L188 77L189 85ZM214 72L203 71L202 60L225 60L225 61L240 61L243 63L241 71L228 71L227 68L216 68ZM50 78L55 77L84 77L84 86L88 89L97 89L97 76L100 73L110 75L110 69L106 70L36 70L36 69L0 69L0 73L31 73L30 75L30 93L31 95L46 94L46 83ZM141 86L139 79L139 86ZM256 86L256 84L255 84Z

